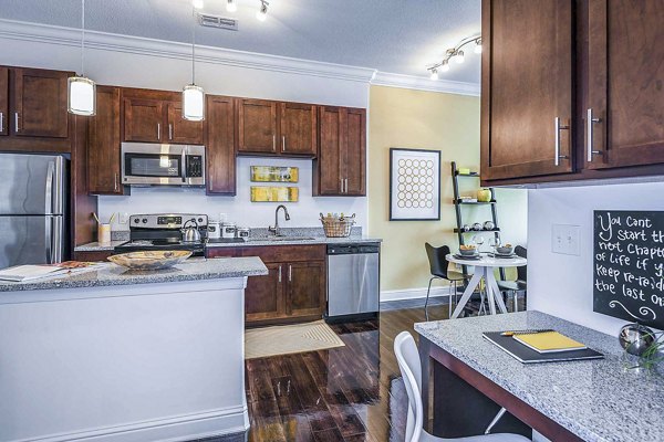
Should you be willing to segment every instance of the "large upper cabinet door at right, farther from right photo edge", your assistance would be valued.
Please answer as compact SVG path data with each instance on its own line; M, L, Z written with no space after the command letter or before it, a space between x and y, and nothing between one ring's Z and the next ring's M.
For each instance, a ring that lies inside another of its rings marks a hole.
M572 3L483 1L483 179L572 171Z

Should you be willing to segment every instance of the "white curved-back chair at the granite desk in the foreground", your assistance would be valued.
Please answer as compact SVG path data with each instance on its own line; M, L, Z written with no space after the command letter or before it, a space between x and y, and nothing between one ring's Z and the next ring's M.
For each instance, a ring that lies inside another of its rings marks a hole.
M519 434L502 433L488 434L491 428L505 413L505 409L500 409L496 418L489 423L484 435L474 435L469 438L443 439L427 433L424 425L424 408L422 404L422 365L419 362L419 354L413 336L408 332L402 332L394 339L394 354L401 370L404 383L406 386L406 394L408 394L408 417L406 419L405 442L530 442L529 439Z

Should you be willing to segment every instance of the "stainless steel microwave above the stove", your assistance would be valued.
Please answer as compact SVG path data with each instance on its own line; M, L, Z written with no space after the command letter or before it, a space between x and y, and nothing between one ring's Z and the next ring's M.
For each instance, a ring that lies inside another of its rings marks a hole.
M122 183L205 187L205 146L123 143Z

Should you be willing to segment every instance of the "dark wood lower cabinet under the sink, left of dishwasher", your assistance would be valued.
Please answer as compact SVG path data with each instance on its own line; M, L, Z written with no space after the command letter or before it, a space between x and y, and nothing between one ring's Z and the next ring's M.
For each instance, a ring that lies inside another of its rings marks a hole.
M247 280L248 326L315 320L325 311L325 246L248 246L208 249L207 257L258 256L269 274Z

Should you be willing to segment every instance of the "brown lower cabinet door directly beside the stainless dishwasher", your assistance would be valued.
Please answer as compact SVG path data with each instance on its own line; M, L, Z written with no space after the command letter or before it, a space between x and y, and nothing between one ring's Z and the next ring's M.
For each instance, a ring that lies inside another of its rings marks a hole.
M322 316L325 309L325 262L289 263L287 269L289 316Z

